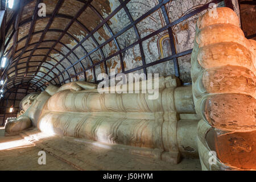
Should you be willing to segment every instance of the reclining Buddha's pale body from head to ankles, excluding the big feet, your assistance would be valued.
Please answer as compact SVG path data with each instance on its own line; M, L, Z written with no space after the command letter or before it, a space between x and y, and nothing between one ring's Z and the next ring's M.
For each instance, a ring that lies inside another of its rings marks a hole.
M140 89L147 82L139 82ZM31 93L20 102L24 113L6 123L6 132L32 125L47 134L148 148L145 155L150 152L172 163L179 162L181 153L197 156L193 140L197 120L189 120L186 126L188 121L181 119L177 125L180 113L195 113L191 86L177 87L179 80L171 76L160 77L158 82L156 100L143 92L99 93L96 84L85 81L69 82L60 88L49 85L37 97ZM183 139L184 127L193 137Z

